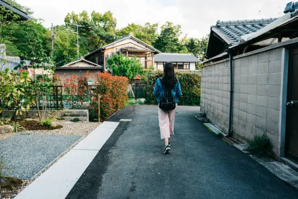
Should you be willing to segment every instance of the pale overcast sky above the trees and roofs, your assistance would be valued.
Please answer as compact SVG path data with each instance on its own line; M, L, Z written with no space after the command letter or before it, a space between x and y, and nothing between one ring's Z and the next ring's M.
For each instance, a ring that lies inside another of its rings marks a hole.
M134 22L181 24L183 34L200 38L209 33L217 20L252 20L276 18L290 0L16 0L44 20L45 27L63 24L68 12L111 10L117 28Z

